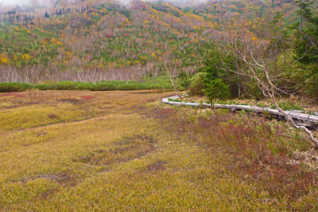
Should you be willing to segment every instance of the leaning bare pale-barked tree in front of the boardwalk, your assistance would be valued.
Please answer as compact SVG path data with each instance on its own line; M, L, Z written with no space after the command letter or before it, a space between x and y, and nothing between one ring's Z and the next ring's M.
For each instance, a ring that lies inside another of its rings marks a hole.
M295 65L291 52L287 49L277 48L275 44L269 44L258 40L242 24L224 22L227 32L228 54L235 58L236 70L233 70L224 61L218 68L224 71L234 72L242 76L242 80L254 81L265 97L270 97L277 110L295 129L301 129L318 147L318 140L304 126L297 126L295 121L277 104L276 98L281 95L296 94L290 79L285 75ZM222 61L222 59L221 59Z

